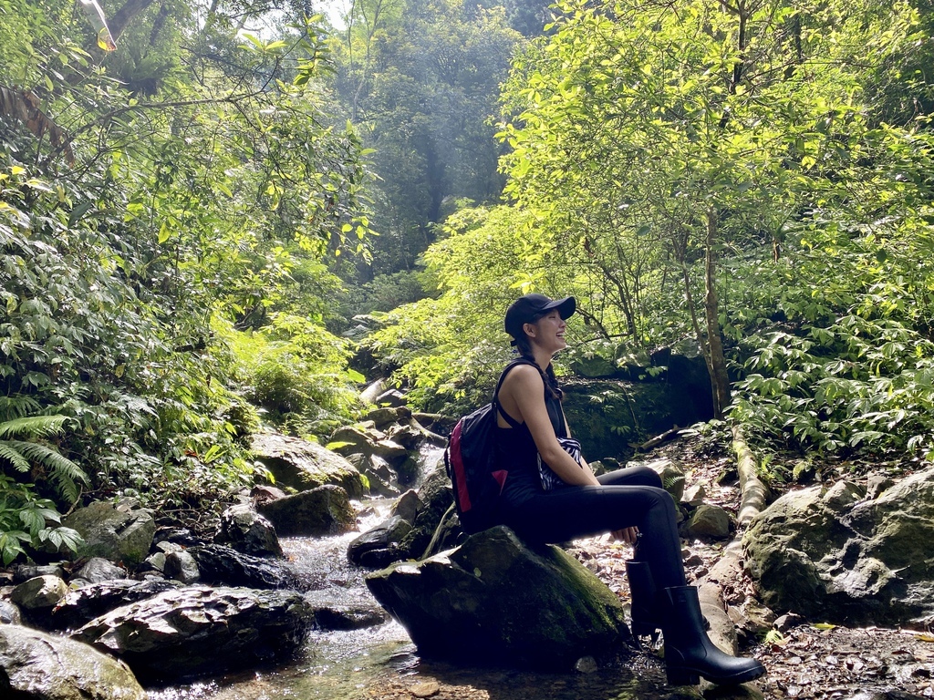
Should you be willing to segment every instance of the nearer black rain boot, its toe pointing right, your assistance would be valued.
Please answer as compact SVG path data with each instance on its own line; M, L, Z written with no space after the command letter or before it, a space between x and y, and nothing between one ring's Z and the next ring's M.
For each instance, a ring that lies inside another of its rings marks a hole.
M658 595L664 611L665 671L670 685L697 685L701 676L719 685L757 679L765 666L716 648L703 629L701 601L694 586L666 588Z

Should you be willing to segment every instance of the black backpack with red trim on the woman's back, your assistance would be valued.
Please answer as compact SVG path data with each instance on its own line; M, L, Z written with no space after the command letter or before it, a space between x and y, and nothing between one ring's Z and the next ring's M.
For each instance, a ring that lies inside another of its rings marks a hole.
M519 357L500 375L493 399L474 413L463 416L451 430L445 449L445 469L454 490L460 527L468 534L498 525L500 494L508 472L497 469L493 437L502 381L517 365L534 365ZM535 365L537 367L537 365Z

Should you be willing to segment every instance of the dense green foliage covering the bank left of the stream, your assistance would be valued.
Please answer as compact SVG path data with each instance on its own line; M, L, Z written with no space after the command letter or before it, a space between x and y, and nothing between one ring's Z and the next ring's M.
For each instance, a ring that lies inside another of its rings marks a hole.
M308 87L316 24L264 42L233 6L136 2L102 35L80 7L0 3L6 561L68 544L54 507L88 494L251 483L257 407L326 435L360 379L323 300L326 261L361 252L366 173Z

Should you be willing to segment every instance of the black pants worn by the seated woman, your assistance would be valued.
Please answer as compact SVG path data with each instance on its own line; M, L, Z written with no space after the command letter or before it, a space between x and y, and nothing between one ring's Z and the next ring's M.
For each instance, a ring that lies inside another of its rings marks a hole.
M648 562L658 588L685 585L674 500L661 477L630 467L597 479L600 486L563 486L508 508L505 525L523 539L551 543L638 527L635 558Z

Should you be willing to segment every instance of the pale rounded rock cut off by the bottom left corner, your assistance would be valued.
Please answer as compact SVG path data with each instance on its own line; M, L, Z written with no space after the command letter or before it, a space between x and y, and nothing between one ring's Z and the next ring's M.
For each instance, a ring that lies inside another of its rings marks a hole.
M87 644L0 625L0 696L28 700L146 700L130 669Z

